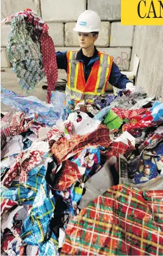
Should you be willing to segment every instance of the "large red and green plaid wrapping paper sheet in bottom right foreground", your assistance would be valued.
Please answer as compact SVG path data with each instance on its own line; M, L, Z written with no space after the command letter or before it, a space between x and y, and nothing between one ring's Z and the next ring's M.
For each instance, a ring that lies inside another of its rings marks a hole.
M162 196L110 188L70 220L60 255L162 255Z

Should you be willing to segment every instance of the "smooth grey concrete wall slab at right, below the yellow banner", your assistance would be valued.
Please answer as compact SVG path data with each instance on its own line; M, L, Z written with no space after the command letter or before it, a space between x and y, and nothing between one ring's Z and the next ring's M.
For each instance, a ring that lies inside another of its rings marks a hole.
M136 86L148 96L161 96L163 101L163 26L136 26L131 70L134 54L140 58Z

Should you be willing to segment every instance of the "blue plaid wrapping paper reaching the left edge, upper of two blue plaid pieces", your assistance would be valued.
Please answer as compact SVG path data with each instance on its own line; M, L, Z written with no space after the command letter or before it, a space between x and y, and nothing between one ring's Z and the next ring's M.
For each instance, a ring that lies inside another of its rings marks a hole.
M1 188L1 198L18 201L19 205L32 205L45 173L45 166L32 169L28 173L26 184L13 181L9 189Z

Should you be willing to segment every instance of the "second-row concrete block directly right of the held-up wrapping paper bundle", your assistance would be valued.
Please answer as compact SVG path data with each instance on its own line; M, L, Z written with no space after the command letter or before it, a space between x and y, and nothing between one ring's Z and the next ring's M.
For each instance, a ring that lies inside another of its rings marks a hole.
M54 46L64 46L64 24L63 23L47 23L49 36L53 39Z

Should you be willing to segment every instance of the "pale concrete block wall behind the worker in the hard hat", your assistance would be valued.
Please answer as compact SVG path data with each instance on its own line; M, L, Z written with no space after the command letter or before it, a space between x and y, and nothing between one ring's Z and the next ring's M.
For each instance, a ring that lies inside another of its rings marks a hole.
M78 34L73 31L75 23L84 10L95 10L101 18L96 47L112 55L121 71L129 70L134 26L120 25L120 0L2 0L1 20L25 8L34 10L46 21L56 50L79 48ZM1 27L1 47L4 47L4 52L9 26ZM6 65L6 60L1 61L1 66L4 63Z

